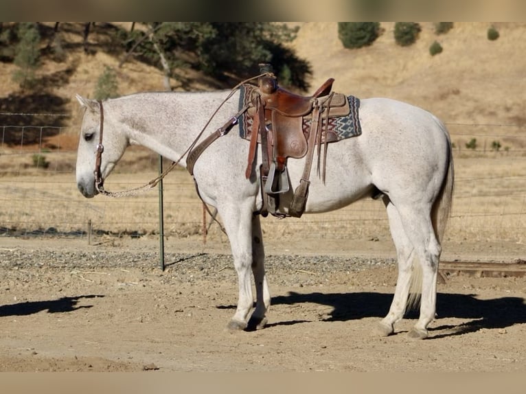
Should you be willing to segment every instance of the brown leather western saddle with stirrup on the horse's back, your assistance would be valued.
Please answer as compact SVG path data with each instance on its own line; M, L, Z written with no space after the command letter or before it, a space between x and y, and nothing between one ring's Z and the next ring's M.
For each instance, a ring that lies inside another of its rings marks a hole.
M327 143L330 139L329 118L349 115L350 106L347 97L332 92L334 78L328 79L311 96L301 96L277 84L273 73L265 73L258 78L258 86L246 86L250 90L251 108L247 115L252 117L252 132L247 170L250 178L253 172L255 149L261 142L262 165L260 174L264 207L261 211L275 216L287 216L276 213L279 196L289 191L287 159L306 157L304 172L299 186L295 189L288 216L301 217L305 211L310 169L315 147L318 150L318 171L320 170L320 152L323 143L323 181L325 180L325 159ZM310 127L305 125L310 124Z

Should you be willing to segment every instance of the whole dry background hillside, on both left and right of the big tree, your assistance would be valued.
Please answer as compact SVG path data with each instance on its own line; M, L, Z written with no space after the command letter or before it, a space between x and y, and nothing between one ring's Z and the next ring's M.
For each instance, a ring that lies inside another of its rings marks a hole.
M455 23L453 30L440 36L435 35L433 23L421 23L417 43L400 47L393 39L393 23L385 22L381 23L385 31L373 45L354 50L341 45L337 23L293 24L299 25L300 30L292 46L312 66L312 91L332 77L336 79L335 91L362 98L404 100L428 109L448 123L526 124L526 23L494 23L500 32L496 41L486 37L490 24L485 22ZM78 42L78 32L65 34L71 45L77 41L78 50L66 62L49 61L41 69L49 75L42 90L60 105L53 106L54 101L49 97L46 100L47 96L29 102L21 100L23 92L11 82L14 65L2 63L2 111L67 111L73 115L71 123L78 122L74 95L93 95L104 66L117 67L120 58L97 49L86 54ZM89 43L96 48L105 39L91 34ZM434 40L444 47L437 56L428 51ZM126 62L118 69L118 78L121 94L163 89L161 71L140 62ZM215 89L214 81L196 73L185 71L185 78L190 81L185 86L173 80L173 89Z

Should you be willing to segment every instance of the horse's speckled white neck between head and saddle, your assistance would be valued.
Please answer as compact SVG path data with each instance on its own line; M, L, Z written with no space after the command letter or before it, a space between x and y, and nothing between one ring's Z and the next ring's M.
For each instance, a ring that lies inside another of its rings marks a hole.
M130 143L144 146L172 161L178 161L209 121L211 115L227 97L225 92L203 93L142 93L126 103L122 118ZM203 131L203 137L233 115L231 99ZM186 165L181 159L181 165Z

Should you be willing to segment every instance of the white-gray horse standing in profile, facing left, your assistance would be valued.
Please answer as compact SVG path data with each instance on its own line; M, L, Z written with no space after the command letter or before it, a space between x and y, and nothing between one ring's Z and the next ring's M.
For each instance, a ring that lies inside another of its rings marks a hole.
M99 165L100 181L104 181L133 143L173 161L181 159L227 94L136 93L104 102L77 96L85 109L76 165L78 189L88 198L98 194L95 165ZM204 135L238 113L239 94L221 106ZM305 213L332 211L374 192L381 193L397 251L398 280L391 308L376 332L382 336L393 333L393 325L404 316L416 283L421 294L420 318L409 336L426 338L427 326L435 318L440 240L453 194L450 137L444 124L431 113L386 98L361 100L359 119L362 135L330 145L324 182L318 176L311 177ZM98 155L101 122L104 153ZM253 214L262 207L261 157L256 158L255 172L247 179L248 152L249 143L239 137L236 124L201 154L193 169L201 198L216 207L222 218L238 274L238 305L229 329L263 327L271 303L260 216ZM179 163L186 166L185 157ZM304 159L288 160L291 190L299 184L303 169ZM286 193L279 199L278 211L286 213L290 198ZM251 272L256 293L252 314Z

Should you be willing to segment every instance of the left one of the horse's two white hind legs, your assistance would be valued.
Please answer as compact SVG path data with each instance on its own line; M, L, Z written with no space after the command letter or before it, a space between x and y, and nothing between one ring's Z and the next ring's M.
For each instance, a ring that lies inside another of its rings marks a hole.
M407 237L398 210L387 196L383 197L387 216L389 218L389 229L396 247L398 262L398 279L396 281L395 294L389 308L389 313L378 323L375 333L381 336L393 334L394 323L399 321L405 313L409 290L411 288L411 270L413 262L413 244Z

